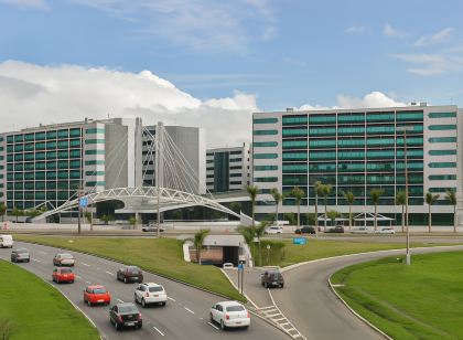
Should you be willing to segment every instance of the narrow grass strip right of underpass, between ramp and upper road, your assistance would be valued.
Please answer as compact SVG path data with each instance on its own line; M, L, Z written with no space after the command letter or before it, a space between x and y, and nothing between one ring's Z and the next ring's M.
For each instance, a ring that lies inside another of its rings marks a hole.
M325 258L331 256L356 254L364 252L387 251L403 248L403 243L389 243L389 242L365 242L365 241L325 241L308 238L306 245L292 244L292 240L281 241L262 241L261 257L262 265L267 264L267 248L270 244L270 263L272 266L286 267L292 264ZM439 245L439 244L432 244ZM429 243L412 243L411 246L431 246ZM256 254L258 247L256 245ZM255 256L258 263L258 256Z

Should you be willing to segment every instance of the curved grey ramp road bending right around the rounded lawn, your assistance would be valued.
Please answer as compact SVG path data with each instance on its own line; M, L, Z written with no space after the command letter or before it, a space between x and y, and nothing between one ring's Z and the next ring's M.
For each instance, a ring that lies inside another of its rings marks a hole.
M449 251L463 251L463 246L413 248L411 253ZM403 253L403 249L386 251L309 263L284 272L284 288L270 291L277 306L306 339L381 339L336 298L327 279L343 267Z

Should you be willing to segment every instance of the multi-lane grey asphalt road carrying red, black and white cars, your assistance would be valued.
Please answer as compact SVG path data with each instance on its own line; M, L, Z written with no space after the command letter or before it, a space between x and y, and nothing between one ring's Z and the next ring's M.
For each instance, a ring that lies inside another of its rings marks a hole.
M95 256L68 252L76 258L74 268L77 275L74 284L57 285L52 281L53 255L57 248L15 242L14 247L25 247L31 253L31 262L18 264L34 273L47 283L57 287L99 329L105 339L286 339L281 331L257 317L252 318L249 329L222 331L216 325L209 325L209 308L223 300L205 291L143 273L144 281L162 284L168 293L169 301L165 307L139 307L143 317L141 330L123 330L117 332L109 322L109 307L88 307L83 300L83 290L89 284L101 284L111 294L111 304L116 301L133 301L136 284L123 284L116 279L116 272L120 264ZM129 249L121 249L129 251ZM67 251L66 251L67 252ZM0 248L0 258L10 261L11 249Z

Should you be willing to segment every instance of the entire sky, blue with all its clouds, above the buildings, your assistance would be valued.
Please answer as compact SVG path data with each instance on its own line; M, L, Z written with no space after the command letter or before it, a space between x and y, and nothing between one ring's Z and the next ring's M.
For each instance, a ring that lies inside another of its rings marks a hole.
M463 106L461 13L459 0L0 0L0 131L141 116L222 147L250 139L257 110Z

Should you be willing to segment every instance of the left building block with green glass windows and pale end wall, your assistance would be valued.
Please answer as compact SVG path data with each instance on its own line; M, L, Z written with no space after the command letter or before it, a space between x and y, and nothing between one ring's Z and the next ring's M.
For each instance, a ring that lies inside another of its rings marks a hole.
M84 191L141 184L141 119L39 126L0 135L0 201L56 208Z

